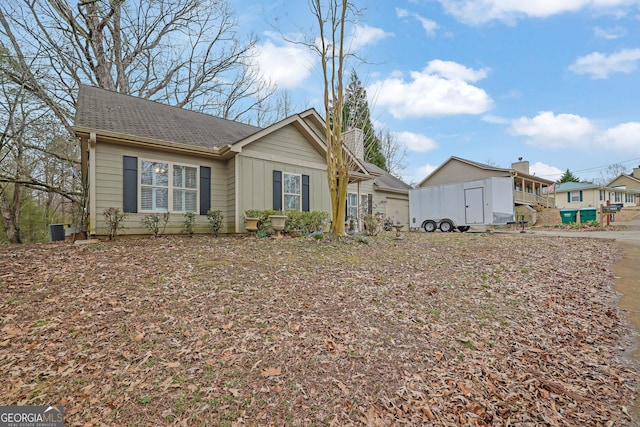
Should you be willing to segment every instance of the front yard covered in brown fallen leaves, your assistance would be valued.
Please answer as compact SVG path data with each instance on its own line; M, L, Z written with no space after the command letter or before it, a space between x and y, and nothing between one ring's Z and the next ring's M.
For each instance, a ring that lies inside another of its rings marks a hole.
M607 426L610 241L200 236L0 248L0 402L66 425Z

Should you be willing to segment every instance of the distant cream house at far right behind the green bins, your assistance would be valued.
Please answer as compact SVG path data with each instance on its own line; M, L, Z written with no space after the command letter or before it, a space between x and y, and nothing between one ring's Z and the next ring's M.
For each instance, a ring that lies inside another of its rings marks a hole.
M587 182L563 182L553 189L559 209L599 208L607 204L637 206L640 190L608 185L601 187Z

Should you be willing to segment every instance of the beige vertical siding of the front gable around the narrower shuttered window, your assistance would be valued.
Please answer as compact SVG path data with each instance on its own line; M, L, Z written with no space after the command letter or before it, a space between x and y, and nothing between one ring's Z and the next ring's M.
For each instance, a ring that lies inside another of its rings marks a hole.
M273 208L273 171L309 175L309 207L331 211L324 153L295 127L287 126L242 148L236 157L237 229L248 209Z

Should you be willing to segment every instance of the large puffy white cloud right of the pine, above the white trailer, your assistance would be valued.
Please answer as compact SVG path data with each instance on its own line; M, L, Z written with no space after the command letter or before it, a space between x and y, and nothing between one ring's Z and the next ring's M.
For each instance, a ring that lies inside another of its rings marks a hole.
M373 83L367 92L375 104L388 108L398 119L455 114L482 114L493 100L468 82L487 76L486 69L473 70L451 61L433 60L422 71L413 71L409 79L395 72Z

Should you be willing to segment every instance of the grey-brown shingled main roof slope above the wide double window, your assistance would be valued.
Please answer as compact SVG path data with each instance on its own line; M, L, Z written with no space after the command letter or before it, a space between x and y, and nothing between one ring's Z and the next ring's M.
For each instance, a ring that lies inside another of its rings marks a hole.
M213 148L233 144L261 128L80 85L75 127L99 133Z

